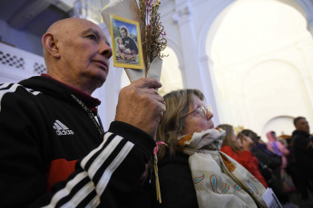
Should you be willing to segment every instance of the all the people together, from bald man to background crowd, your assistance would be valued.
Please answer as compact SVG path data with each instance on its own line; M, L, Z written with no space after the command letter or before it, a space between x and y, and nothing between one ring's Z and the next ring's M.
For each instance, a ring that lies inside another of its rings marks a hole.
M297 207L297 191L313 206L306 118L288 143L273 131L265 143L250 129L216 128L201 90L161 97L159 81L141 79L120 91L105 130L92 97L112 56L103 31L69 18L42 43L46 74L0 84L2 207L257 208L268 207L267 188L286 207Z

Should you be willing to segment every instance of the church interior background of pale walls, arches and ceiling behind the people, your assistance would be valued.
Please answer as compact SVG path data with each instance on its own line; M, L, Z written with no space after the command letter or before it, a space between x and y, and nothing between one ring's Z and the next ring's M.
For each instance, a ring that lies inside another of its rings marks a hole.
M41 36L57 20L88 19L110 37L101 12L113 2L0 1L0 81L44 73ZM161 0L160 13L167 40L161 95L199 89L216 126L253 129L264 141L268 131L290 136L298 116L313 124L312 0ZM103 102L104 128L129 83L111 63L106 84L93 93Z

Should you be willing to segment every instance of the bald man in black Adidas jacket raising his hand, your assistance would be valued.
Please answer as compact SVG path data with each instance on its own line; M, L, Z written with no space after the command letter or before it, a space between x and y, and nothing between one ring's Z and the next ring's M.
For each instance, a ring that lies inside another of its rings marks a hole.
M69 18L42 42L47 74L0 85L1 207L137 206L165 111L161 83L122 89L104 133L91 97L112 56L103 31Z

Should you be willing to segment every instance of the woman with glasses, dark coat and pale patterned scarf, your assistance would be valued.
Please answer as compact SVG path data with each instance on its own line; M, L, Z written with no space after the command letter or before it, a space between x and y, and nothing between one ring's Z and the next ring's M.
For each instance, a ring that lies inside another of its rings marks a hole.
M214 128L202 92L175 90L164 99L167 110L157 139L167 146L158 152L161 203L157 206L257 207L258 203L266 207L260 196L264 186L236 161L219 153L224 131ZM248 189L251 195L244 191Z

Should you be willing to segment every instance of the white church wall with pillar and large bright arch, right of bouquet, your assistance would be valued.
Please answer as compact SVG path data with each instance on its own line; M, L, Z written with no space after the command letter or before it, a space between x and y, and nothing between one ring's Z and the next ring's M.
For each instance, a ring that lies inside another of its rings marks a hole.
M244 15L236 7L240 2L246 7ZM184 86L204 92L213 103L217 124L252 128L259 135L272 128L279 135L291 134L294 117L305 116L313 123L312 35L307 30L312 4L275 2L162 2L162 23L171 38L178 35ZM260 6L266 11L258 12ZM302 20L295 22L297 16ZM225 32L223 25L236 18Z

